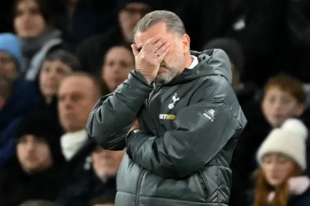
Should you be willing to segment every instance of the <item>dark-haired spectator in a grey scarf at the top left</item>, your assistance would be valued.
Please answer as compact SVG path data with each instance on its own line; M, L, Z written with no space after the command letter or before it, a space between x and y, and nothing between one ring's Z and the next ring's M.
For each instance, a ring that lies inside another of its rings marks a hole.
M62 32L52 27L49 7L42 0L17 0L14 27L22 41L25 78L33 81L46 55L63 46Z

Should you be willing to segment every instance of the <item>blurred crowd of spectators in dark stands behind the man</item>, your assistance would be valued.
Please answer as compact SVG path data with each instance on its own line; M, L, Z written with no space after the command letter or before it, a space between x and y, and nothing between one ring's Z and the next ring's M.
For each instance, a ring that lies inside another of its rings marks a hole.
M191 50L221 48L231 60L248 126L229 206L310 206L309 0L7 0L0 206L114 205L125 151L102 149L84 127L134 68L132 31L153 10L180 16ZM290 118L299 120L282 124Z

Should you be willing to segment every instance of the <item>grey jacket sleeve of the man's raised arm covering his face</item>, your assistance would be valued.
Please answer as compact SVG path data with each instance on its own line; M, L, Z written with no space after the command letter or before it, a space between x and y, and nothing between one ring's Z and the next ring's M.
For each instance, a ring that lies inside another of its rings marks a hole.
M142 74L130 72L114 93L93 108L86 126L89 135L105 149L123 150L124 138L152 90Z

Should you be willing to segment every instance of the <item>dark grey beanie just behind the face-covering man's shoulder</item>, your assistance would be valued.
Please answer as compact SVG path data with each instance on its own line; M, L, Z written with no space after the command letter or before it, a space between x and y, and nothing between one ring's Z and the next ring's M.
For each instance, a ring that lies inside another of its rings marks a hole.
M241 44L232 38L217 38L208 42L203 50L222 49L233 62L237 71L241 73L245 64L245 57Z

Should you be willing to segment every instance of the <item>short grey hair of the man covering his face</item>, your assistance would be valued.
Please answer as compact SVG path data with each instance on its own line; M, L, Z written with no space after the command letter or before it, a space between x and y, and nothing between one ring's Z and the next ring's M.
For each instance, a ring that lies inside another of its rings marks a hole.
M136 42L135 36L137 32L145 32L158 23L165 23L167 31L178 37L182 37L186 34L184 24L178 15L170 11L157 10L145 15L137 23L133 31L134 43Z

